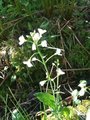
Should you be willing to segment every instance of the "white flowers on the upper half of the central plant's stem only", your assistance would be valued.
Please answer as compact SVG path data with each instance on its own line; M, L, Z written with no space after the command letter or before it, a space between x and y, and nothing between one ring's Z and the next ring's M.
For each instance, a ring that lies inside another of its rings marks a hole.
M34 32L30 32L30 35L26 35L27 38L30 37L32 39L32 51L35 51L37 49L37 46L41 46L41 47L46 47L47 49L54 49L56 51L54 55L62 56L62 51L63 51L62 49L48 47L46 40L40 41L44 33L46 33L46 30L38 28L38 32L34 30ZM39 41L40 41L40 44L38 43ZM25 42L28 42L28 40L26 40L25 37L21 35L19 37L19 45L21 46ZM36 60L39 61L38 59L35 59L34 61ZM33 66L32 61L33 60L28 59L27 61L23 61L23 64L27 65L28 67L32 67Z

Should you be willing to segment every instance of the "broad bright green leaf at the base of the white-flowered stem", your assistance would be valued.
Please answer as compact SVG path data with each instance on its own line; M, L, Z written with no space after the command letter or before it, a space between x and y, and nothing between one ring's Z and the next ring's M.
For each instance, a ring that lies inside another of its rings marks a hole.
M39 93L36 93L35 96L45 105L48 105L49 107L55 110L55 98L53 95L49 93L39 92Z

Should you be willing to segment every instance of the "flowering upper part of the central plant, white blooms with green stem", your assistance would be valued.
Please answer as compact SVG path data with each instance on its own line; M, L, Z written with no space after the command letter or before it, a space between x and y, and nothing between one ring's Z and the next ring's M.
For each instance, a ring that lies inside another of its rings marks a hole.
M50 47L48 46L48 42L46 40L42 40L42 37L43 37L43 34L46 33L46 30L43 30L43 29L38 29L38 32L36 32L34 30L34 32L30 32L30 35L26 35L26 39L23 35L21 35L19 37L19 45L23 45L24 46L24 43L28 42L30 45L31 45L31 50L32 52L34 51L34 53L30 56L29 59L27 59L26 61L23 60L23 64L27 65L27 67L33 67L34 65L34 62L35 61L38 61L40 62L43 66L44 66L44 69L45 69L45 73L46 73L46 80L43 80L43 81L40 81L40 85L44 85L45 84L45 81L47 82L50 82L51 81L53 82L56 77L60 76L60 75L63 75L65 74L60 68L59 68L59 62L58 62L58 66L55 64L55 63L52 63L52 67L51 67L51 70L48 70L48 67L47 67L47 62L54 56L62 56L62 51L64 51L63 49L60 49L60 48L55 48L55 47ZM43 49L49 49L49 50L53 50L54 51L54 54L49 56L47 59L46 59L46 54L44 55L41 51L41 48ZM40 59L39 59L40 58ZM54 67L56 67L56 77L55 78L52 78L51 77L51 74L52 74L52 71L54 69ZM44 84L42 84L44 83Z

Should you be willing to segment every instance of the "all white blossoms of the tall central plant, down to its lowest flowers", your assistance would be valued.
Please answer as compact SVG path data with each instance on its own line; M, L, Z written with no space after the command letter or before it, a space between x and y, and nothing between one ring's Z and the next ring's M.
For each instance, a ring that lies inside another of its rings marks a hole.
M45 64L52 57L54 57L56 55L62 56L62 51L64 51L63 49L50 47L50 46L48 46L48 43L46 40L42 40L43 34L45 34L45 33L46 33L46 30L38 28L37 31L34 30L34 32L30 32L30 35L26 35L26 39L23 35L21 35L19 37L19 45L22 46L24 43L30 42L32 51L38 52L39 47L42 47L42 48L44 47L46 49L55 51L53 55L51 55L49 58L47 58L47 60L45 60L46 55L41 56L41 54L40 54L41 60L39 60L38 58L36 58L35 54L33 54L28 60L23 61L23 64L27 65L30 68L33 67L34 61L38 61L38 62L42 63L45 67ZM43 61L44 61L44 63L43 63ZM45 68L45 70L46 70L46 80L41 81L39 83L40 86L44 86L44 84L48 81L47 79L48 79L49 73L47 71L47 68ZM65 72L63 72L60 68L56 68L56 77L59 77L60 75L64 75L64 74L65 74ZM52 78L51 81L54 81L56 79L56 77Z

